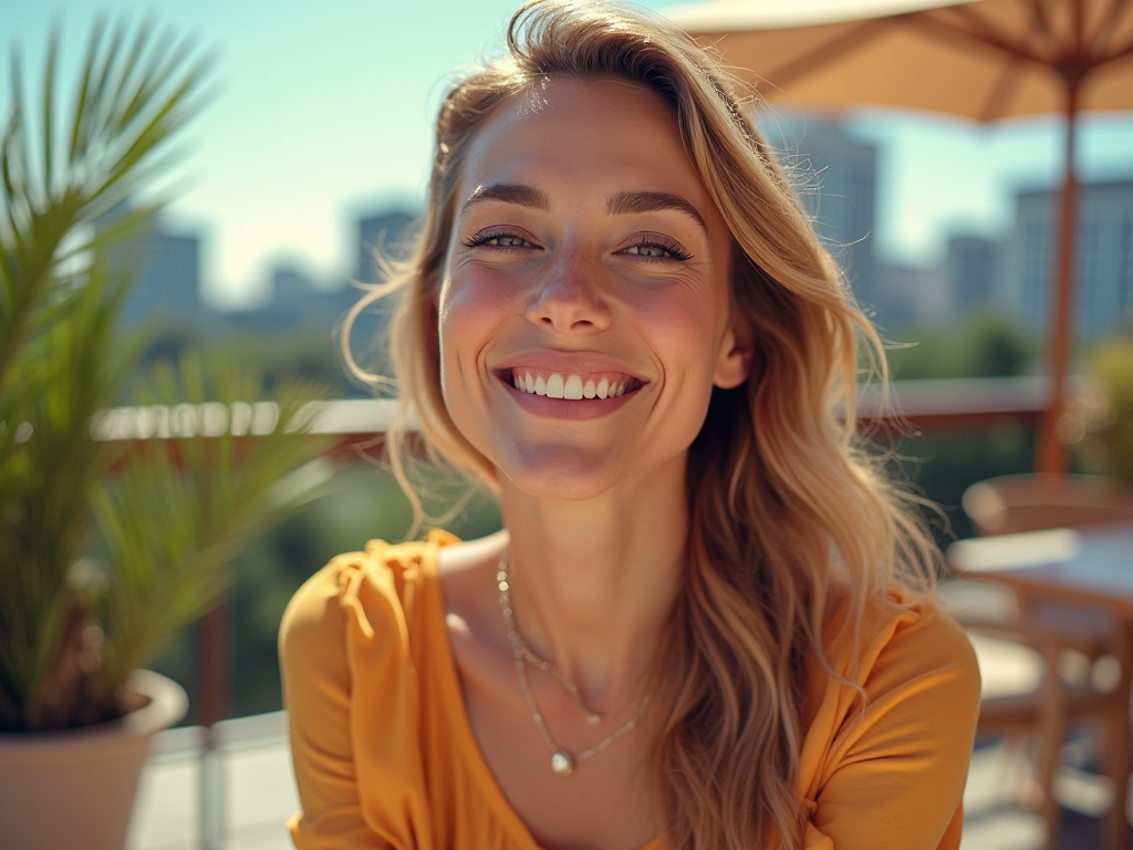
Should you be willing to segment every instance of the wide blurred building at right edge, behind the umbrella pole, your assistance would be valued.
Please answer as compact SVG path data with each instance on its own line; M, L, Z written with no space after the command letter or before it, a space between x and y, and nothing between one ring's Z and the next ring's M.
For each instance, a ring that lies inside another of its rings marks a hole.
M999 300L1022 324L1043 331L1053 300L1060 192L1022 192L1005 250ZM1079 192L1073 316L1075 333L1110 333L1133 313L1133 180L1083 185Z

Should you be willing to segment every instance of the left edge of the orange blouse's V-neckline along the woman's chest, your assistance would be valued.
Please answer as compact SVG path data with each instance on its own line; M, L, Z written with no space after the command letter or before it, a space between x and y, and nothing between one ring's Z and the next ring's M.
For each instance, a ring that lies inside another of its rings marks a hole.
M460 671L457 670L457 660L453 655L452 645L449 641L449 628L445 622L446 612L444 606L444 593L441 589L441 573L438 569L438 552L441 544L431 541L426 546L423 563L423 578L425 579L423 590L426 596L426 604L431 607L428 612L431 622L437 623L440 628L441 644L441 688L444 690L444 704L448 706L449 715L452 719L452 728L459 742L459 749L463 754L468 766L471 768L480 791L487 798L488 805L493 808L504 825L523 850L544 850L531 831L523 823L519 813L512 808L504 796L500 783L496 782L492 768L488 767L484 751L480 749L476 734L472 732L472 724L468 717L468 708L465 705L463 689L460 687ZM642 844L638 850L664 850L664 843L659 838Z

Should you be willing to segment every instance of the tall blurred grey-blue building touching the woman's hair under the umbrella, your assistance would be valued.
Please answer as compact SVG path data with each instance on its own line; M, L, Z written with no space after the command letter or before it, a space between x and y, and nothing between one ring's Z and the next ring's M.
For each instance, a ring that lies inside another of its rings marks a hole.
M872 240L877 146L810 117L778 116L761 129L793 173L816 232L849 273L858 300L884 316Z

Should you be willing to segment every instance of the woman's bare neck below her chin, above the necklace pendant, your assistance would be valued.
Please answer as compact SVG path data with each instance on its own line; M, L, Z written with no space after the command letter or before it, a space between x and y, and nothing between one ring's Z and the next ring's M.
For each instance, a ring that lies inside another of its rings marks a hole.
M688 537L687 456L587 501L501 481L519 631L594 711L640 692L676 600Z

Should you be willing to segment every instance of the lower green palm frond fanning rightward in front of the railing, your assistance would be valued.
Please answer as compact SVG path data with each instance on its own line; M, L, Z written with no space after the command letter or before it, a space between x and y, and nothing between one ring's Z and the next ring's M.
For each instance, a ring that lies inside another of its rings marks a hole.
M254 373L206 371L187 357L177 367L157 364L136 392L165 414L165 433L179 436L135 447L131 462L95 492L111 575L101 692L112 694L220 601L231 583L228 563L253 535L322 492L317 476L283 491L279 483L326 449L307 433L305 407L323 391L289 383L263 399L259 385ZM278 411L274 422L241 435L239 411L257 406ZM223 422L206 423L208 414Z

